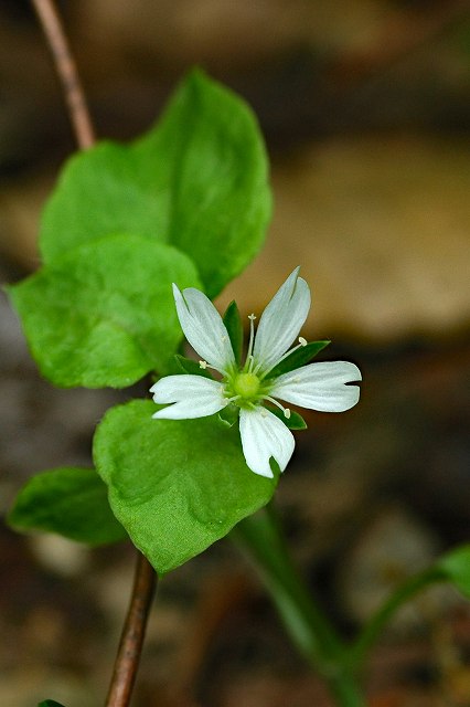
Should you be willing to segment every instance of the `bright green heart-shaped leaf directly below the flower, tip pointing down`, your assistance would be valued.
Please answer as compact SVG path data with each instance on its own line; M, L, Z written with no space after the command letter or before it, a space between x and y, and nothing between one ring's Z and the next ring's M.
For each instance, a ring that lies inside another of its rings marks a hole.
M153 420L156 409L148 400L111 409L97 429L94 456L113 511L163 574L266 505L277 478L246 466L238 425L227 428L216 415Z

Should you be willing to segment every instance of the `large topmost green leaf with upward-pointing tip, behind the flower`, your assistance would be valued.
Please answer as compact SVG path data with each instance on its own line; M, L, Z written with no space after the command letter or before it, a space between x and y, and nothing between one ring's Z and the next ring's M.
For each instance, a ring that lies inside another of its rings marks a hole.
M190 255L212 297L259 251L269 217L254 114L193 71L143 138L103 143L70 160L45 208L40 246L50 263L104 235L138 233Z

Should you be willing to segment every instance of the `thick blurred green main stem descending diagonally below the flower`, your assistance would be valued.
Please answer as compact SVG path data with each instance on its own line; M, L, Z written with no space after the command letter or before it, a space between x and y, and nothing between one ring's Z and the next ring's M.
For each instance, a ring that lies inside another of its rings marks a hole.
M254 560L292 642L328 683L337 704L364 707L345 646L297 573L273 508L245 518L232 537Z

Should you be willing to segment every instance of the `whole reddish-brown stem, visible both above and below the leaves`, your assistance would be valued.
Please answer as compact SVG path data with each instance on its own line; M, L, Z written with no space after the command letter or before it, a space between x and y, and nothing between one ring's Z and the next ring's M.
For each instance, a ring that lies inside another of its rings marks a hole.
M31 1L54 57L76 140L81 149L87 149L95 143L95 131L76 64L68 49L54 2L53 0ZM157 576L153 568L147 558L139 552L132 594L122 626L106 707L127 707L129 704L156 587Z

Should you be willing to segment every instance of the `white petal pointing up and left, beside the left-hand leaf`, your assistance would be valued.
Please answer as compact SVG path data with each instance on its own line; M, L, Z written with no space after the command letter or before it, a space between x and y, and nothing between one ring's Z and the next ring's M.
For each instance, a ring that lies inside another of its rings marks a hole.
M188 341L207 363L227 372L235 366L235 357L227 329L212 302L195 287L181 293L173 285L173 295Z

